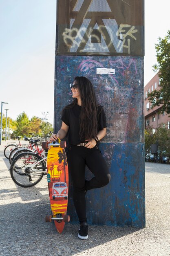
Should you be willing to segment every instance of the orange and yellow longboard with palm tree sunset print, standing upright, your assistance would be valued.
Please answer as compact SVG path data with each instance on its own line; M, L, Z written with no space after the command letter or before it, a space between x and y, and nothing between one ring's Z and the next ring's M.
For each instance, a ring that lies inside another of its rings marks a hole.
M68 204L68 165L66 141L42 142L42 148L48 149L47 155L47 182L51 204L51 215L46 215L46 222L54 221L59 233L62 233L65 222L70 221L67 215Z

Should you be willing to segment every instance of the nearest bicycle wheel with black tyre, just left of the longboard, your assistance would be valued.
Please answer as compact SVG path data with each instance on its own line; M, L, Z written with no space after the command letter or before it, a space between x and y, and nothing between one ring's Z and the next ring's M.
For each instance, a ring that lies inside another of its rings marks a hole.
M21 153L13 160L10 168L12 180L18 186L28 188L36 185L46 171L46 164L42 158L31 152Z

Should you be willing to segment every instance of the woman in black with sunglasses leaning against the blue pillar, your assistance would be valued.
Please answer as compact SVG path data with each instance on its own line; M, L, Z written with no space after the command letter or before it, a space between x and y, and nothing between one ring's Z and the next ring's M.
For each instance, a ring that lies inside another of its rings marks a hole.
M63 139L68 133L68 170L73 180L73 201L80 222L78 237L88 238L86 218L86 192L105 186L110 181L108 167L99 150L99 141L106 135L106 117L102 106L97 105L91 81L76 76L71 85L73 103L62 112L62 126L50 142ZM85 166L94 177L85 180Z

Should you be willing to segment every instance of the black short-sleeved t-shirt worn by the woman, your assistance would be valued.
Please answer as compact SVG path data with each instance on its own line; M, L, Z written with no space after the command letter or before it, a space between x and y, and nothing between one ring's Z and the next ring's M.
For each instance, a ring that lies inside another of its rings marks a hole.
M79 105L75 105L72 108L66 108L63 110L62 113L62 121L69 126L68 131L68 141L70 144L76 145L79 144L80 141L84 141L88 138L82 138L80 140L79 136L79 115L81 112L82 107ZM102 130L106 128L106 116L102 106L97 107L97 116L98 116L98 124L97 130ZM84 121L84 125L86 125L86 121Z

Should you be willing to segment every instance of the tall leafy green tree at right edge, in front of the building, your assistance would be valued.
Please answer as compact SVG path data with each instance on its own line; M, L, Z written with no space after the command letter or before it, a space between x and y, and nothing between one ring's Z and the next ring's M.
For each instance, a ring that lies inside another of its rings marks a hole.
M157 64L153 65L153 68L155 72L159 70L161 89L150 92L148 99L152 103L152 107L163 104L161 113L170 114L170 30L168 30L165 38L158 38L155 49Z

